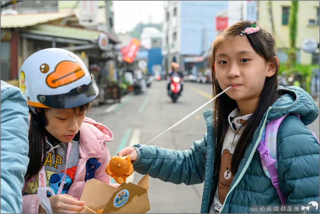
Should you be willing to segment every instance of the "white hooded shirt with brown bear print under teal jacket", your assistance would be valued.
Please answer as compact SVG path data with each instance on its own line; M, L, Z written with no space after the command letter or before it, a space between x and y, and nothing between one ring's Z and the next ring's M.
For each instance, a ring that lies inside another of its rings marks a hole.
M236 115L240 117L239 112ZM223 141L222 151L221 151L221 164L219 173L219 183L216 193L214 194L213 202L210 206L209 213L220 213L224 199L229 191L233 175L231 173L231 160L233 152L235 151L236 144L239 140L240 135L237 134L231 126L229 126L227 134Z

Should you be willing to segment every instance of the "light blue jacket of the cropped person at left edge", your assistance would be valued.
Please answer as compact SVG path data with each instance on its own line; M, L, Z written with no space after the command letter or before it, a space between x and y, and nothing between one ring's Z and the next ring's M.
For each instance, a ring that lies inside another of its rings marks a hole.
M1 213L21 213L21 189L29 163L29 107L19 88L0 82Z

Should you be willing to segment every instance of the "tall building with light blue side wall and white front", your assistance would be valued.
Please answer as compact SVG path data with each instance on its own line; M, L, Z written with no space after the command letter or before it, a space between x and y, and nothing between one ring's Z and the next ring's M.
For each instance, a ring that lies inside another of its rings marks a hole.
M184 70L185 57L204 55L217 35L217 13L227 9L228 1L164 1L164 70L172 61Z

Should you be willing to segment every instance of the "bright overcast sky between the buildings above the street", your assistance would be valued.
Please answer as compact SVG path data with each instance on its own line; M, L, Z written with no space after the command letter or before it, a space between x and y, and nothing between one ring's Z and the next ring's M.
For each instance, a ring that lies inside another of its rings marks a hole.
M113 1L115 31L132 30L141 20L148 23L150 16L153 23L164 21L163 1Z

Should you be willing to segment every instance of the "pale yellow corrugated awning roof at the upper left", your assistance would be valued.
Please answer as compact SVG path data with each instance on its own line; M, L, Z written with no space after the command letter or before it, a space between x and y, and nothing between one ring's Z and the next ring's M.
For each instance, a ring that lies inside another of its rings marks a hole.
M1 28L24 28L48 21L63 19L69 15L69 12L1 15L0 24ZM74 16L73 14L71 15Z

